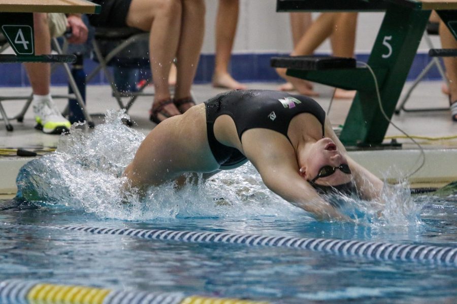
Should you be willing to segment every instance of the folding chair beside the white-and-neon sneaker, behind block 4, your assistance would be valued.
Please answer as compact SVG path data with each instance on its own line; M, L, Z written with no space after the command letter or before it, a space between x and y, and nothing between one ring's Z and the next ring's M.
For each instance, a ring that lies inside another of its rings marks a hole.
M52 49L55 52L57 52L58 54L64 54L66 52L67 45L68 45L68 43L66 41L64 41L63 48L61 48L60 44L58 43L56 38L53 38L51 40L51 44L52 44ZM0 45L1 45L0 53L4 52L9 47L8 41L5 39L3 34L0 34ZM66 95L51 95L52 98L53 99L61 99L61 98L64 98L64 99L68 99L68 98L76 99L78 105L81 107L81 110L82 110L83 115L84 115L84 119L86 120L88 126L89 127L93 127L93 122L91 121L90 116L87 113L84 101L82 99L81 93L79 92L78 86L77 86L77 84L76 84L76 82L75 82L75 80L73 78L73 75L72 75L72 72L71 72L69 64L68 63L64 63L64 62L58 63L58 64L62 64L63 65L63 68L64 68L64 70L65 70L65 72L67 74L67 78L68 78L69 84L72 87L73 92L75 92L75 93L66 94ZM52 73L52 71L55 70L56 67L57 66L55 64L52 64L51 73ZM6 126L7 131L13 131L13 126L11 125L10 120L17 120L18 122L22 122L24 120L25 112L29 108L32 99L33 99L33 94L30 94L30 95L27 95L27 96L0 96L0 114L2 115L2 119L1 120L3 120L5 122L5 126ZM14 116L12 118L8 117L8 115L7 115L6 111L5 111L5 108L2 105L3 101L8 101L8 100L26 100L24 106L22 107L22 110L16 116ZM67 110L65 110L64 112L67 112Z

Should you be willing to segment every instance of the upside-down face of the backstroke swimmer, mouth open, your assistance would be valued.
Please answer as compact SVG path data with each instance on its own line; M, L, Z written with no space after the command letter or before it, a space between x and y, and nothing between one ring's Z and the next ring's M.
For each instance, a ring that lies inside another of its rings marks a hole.
M324 166L339 167L347 164L346 157L338 150L335 142L330 138L322 138L317 142L310 144L303 151L304 164L300 168L300 175L306 180L313 180L319 170ZM320 177L315 180L319 185L339 185L351 180L351 174L335 170L335 173Z

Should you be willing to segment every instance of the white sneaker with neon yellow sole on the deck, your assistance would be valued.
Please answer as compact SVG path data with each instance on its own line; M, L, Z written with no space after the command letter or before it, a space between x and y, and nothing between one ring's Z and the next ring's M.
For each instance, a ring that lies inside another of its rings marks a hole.
M34 100L32 108L34 109L35 120L38 123L37 129L47 134L69 132L72 124L61 115L52 100Z

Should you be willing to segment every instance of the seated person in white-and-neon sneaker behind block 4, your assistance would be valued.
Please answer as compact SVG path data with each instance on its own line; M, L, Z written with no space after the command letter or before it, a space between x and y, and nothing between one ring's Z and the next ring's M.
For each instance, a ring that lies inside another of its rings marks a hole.
M68 42L81 44L87 40L87 27L81 15L34 13L35 54L51 54L51 38L61 36L67 28L71 29ZM24 63L33 99L31 102L34 111L37 129L47 134L61 134L70 130L70 122L64 118L50 94L51 64Z

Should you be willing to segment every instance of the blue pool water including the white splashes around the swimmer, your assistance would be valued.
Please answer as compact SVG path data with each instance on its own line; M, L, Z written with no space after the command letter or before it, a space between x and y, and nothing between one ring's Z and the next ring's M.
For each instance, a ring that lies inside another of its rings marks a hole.
M117 290L183 292L279 303L456 302L455 265L386 261L303 249L156 241L62 231L82 225L233 232L457 247L457 191L411 196L387 187L384 218L346 202L353 222L319 222L263 186L247 164L206 184L135 193L118 176L143 135L121 113L91 135L62 137L57 153L26 165L18 198L0 201L0 281L38 280Z

